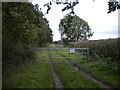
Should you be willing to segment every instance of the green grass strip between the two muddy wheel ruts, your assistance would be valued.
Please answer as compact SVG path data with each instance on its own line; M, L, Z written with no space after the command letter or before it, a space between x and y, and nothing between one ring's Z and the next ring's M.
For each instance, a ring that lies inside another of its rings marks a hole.
M56 56L60 57L61 55L54 54L54 57ZM52 61L62 62L55 63L55 66L65 88L100 88L98 84L76 71L65 59L53 59Z

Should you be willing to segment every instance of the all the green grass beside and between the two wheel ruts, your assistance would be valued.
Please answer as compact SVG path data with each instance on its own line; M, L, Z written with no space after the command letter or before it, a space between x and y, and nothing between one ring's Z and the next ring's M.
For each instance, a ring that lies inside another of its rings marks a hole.
M51 50L55 52L56 50ZM49 55L40 52L47 50L36 50L37 57L48 57ZM68 50L59 50L57 52L68 52ZM60 54L51 54L52 57L61 57ZM64 54L68 57L69 54ZM71 54L75 56L74 54ZM113 87L118 86L118 68L117 63L107 64L105 61L90 61L85 59L70 59L91 72L97 78L110 84ZM65 59L53 59L57 74L60 76L65 88L100 88L96 83L85 77L79 71L73 69ZM48 65L48 59L36 59L34 63L28 63L26 66L14 68L11 75L3 76L3 88L53 88L54 82Z

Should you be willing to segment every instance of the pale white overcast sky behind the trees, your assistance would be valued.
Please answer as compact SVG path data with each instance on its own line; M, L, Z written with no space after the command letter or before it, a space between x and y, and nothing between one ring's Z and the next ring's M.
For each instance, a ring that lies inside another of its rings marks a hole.
M42 7L43 13L46 12L47 7L43 5L50 0L33 0L33 4L39 4ZM72 0L71 0L72 1ZM118 10L107 14L109 0L79 0L79 4L75 6L75 13L80 18L88 22L93 36L90 40L108 39L118 37ZM60 33L58 31L58 25L60 19L62 19L69 11L62 12L63 5L53 4L49 14L45 17L49 21L50 28L53 31L53 40L60 40Z

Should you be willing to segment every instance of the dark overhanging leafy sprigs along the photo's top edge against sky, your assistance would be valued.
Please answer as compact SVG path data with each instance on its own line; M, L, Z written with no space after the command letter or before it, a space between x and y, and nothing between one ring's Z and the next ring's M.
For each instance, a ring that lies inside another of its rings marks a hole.
M93 0L94 2L95 0ZM44 7L47 7L47 11L46 11L46 14L49 13L49 11L51 10L51 5L53 4L57 4L57 5L66 5L62 11L66 11L66 10L71 10L71 12L69 14L75 14L74 12L74 6L76 6L77 4L79 4L79 0L73 0L73 1L69 1L69 0L65 0L65 1L62 1L62 0L51 0L50 2L44 4ZM38 4L37 4L38 5ZM114 12L115 10L117 9L120 9L120 2L118 1L109 1L108 2L108 12L107 13L111 13L111 12ZM41 10L41 8L40 8Z

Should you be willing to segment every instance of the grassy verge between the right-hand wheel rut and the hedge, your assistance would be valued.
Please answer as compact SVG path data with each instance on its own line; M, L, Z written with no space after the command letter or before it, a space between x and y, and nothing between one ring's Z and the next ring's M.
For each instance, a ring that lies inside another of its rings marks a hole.
M63 52L68 52L63 50ZM68 55L64 55L68 56ZM72 57L78 57L75 54L71 54ZM118 85L118 63L107 63L104 60L86 60L86 59L70 59L73 62L78 63L83 69L92 73L98 79L106 82L114 88L120 87Z

